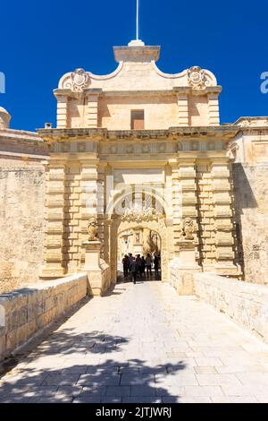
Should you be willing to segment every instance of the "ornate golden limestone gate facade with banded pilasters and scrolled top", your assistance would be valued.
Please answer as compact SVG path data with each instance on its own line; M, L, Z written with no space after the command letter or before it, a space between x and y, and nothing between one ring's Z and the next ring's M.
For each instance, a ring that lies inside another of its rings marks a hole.
M239 128L220 125L222 88L213 73L198 66L162 73L155 64L160 47L136 42L113 50L119 63L113 73L76 69L63 75L54 90L57 127L38 131L50 150L42 278L83 268L81 244L92 215L112 281L120 258L118 234L133 228L160 236L167 281L186 218L194 222L202 270L240 276L226 155ZM116 210L121 203L126 212L130 202L148 198L152 203L142 205L140 215Z

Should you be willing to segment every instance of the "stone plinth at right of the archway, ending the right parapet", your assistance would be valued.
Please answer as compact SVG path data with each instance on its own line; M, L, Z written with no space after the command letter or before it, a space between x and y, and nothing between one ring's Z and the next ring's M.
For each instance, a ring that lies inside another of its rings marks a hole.
M191 240L180 240L179 256L170 262L170 278L172 287L174 287L180 296L194 294L194 273L201 271L196 262L196 244Z

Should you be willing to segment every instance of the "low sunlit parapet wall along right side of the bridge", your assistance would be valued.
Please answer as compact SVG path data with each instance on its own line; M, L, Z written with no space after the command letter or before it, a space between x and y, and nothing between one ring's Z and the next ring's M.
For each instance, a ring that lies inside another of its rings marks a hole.
M195 293L268 343L268 288L213 273L196 273Z

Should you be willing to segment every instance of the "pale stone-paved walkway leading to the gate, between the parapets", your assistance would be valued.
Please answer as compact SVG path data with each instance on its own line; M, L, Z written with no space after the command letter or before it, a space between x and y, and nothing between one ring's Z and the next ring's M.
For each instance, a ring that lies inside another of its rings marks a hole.
M167 284L118 284L0 387L2 402L268 402L268 347Z

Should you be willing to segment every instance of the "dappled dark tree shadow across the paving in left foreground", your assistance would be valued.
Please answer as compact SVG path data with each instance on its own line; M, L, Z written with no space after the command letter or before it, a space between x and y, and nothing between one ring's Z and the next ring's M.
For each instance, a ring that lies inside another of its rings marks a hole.
M101 331L54 331L0 380L0 402L179 402L186 365L126 360L129 343Z

